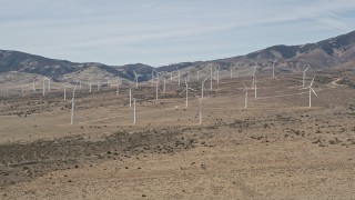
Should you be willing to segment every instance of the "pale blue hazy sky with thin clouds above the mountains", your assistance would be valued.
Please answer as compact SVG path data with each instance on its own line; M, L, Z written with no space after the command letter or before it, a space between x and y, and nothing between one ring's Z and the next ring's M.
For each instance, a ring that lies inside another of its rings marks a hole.
M0 49L154 67L355 30L354 0L0 0Z

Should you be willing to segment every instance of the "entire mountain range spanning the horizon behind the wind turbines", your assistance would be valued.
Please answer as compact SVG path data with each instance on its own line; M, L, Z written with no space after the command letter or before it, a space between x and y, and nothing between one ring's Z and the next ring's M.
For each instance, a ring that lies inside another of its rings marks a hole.
M134 81L133 70L138 73L139 81L152 78L152 71L169 76L170 72L180 70L182 76L201 70L209 73L211 67L222 70L236 68L241 76L248 74L254 66L258 66L258 73L270 72L273 61L276 60L278 73L300 71L304 64L310 64L312 70L335 68L338 64L355 61L355 31L316 43L302 46L273 46L245 56L196 62L180 62L153 68L143 63L125 66L106 66L95 62L77 63L67 60L49 59L19 51L0 50L0 73L22 72L47 77L54 77L57 81L69 79L99 79L119 77Z

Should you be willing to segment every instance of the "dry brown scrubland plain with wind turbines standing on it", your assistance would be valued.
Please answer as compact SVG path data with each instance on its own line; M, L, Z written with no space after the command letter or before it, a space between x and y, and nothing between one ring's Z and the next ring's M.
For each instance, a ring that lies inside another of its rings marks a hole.
M315 76L312 107L308 108ZM346 81L344 81L346 80ZM1 93L0 199L353 199L352 70ZM245 108L244 84L247 87Z

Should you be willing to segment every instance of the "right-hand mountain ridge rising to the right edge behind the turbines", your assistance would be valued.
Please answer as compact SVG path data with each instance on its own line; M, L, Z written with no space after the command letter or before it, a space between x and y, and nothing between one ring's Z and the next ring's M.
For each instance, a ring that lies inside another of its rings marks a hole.
M224 70L236 68L242 76L250 74L252 68L257 66L257 72L262 74L270 73L274 60L278 73L301 71L304 64L310 64L311 70L324 70L355 61L355 31L316 43L273 46L245 56L212 60L201 64L220 66Z

